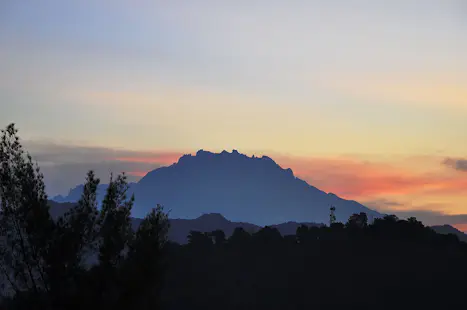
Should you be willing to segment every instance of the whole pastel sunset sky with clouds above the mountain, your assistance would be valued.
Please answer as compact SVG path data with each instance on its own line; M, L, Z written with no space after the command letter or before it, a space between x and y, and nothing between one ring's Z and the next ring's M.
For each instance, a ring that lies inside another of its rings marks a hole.
M463 0L0 1L0 126L51 195L199 149L467 231Z

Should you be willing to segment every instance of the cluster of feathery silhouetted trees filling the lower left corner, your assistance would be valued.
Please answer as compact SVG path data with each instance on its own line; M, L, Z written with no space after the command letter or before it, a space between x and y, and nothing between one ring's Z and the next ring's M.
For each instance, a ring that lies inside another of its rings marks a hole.
M43 176L9 125L0 142L0 272L8 309L158 305L167 215L157 206L134 231L125 175L98 210L92 171L80 201L54 221ZM149 298L150 297L150 298Z

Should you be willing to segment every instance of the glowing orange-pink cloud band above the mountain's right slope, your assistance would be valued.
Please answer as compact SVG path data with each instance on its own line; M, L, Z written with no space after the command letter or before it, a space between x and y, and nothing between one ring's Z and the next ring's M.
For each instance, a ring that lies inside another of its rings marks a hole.
M277 158L277 161L313 186L349 199L467 192L467 176L461 173L423 174L390 164L342 158L282 157Z

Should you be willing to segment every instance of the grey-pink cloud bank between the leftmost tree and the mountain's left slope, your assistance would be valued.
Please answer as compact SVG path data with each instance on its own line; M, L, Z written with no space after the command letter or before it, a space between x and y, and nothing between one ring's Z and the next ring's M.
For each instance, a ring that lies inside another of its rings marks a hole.
M103 183L108 182L110 173L122 172L128 175L130 181L137 181L151 170L175 163L183 154L37 141L25 141L24 145L39 163L50 195L66 193L70 188L83 183L89 170L94 170Z

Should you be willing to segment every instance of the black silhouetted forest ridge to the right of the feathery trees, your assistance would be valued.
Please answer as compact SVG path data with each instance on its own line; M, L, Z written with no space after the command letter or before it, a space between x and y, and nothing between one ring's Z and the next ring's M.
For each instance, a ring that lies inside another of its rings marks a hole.
M415 218L365 214L344 225L192 232L170 244L170 309L357 309L465 306L467 244ZM350 307L350 308L349 308Z

